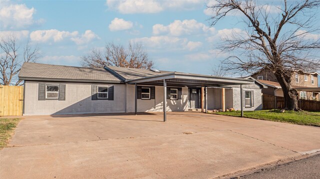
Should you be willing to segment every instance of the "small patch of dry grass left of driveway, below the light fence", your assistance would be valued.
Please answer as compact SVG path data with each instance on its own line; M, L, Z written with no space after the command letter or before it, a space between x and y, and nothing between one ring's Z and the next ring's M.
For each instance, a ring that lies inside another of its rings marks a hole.
M20 119L0 118L0 149L7 146Z

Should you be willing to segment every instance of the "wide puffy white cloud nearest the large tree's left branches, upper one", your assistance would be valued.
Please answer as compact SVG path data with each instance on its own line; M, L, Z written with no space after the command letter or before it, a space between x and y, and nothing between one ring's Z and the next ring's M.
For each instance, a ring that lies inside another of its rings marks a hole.
M169 25L155 24L152 26L152 33L155 35L168 33L173 36L213 33L214 28L208 27L194 19L174 20Z

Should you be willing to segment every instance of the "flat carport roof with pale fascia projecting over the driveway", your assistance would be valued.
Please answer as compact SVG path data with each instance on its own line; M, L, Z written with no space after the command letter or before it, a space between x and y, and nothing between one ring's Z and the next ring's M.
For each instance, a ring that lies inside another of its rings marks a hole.
M210 75L200 75L191 73L171 72L150 77L143 77L134 80L128 80L128 84L162 85L166 80L167 86L225 86L225 85L245 85L254 84L252 79L239 79L228 77L217 77Z

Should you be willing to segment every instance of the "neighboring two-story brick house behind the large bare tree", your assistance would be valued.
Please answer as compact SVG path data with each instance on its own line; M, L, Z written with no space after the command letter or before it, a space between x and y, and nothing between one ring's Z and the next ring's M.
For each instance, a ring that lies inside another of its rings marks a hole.
M298 91L300 99L320 101L318 75L319 73L317 72L296 72L292 74L291 85ZM251 77L268 87L262 89L263 94L283 96L281 86L271 71L262 69L252 74Z

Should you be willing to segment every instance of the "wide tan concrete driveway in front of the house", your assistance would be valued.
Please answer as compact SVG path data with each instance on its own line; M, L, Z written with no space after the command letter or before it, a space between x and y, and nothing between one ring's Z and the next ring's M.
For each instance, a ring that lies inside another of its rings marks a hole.
M320 151L317 127L196 112L23 118L1 179L214 178Z

